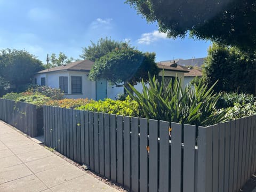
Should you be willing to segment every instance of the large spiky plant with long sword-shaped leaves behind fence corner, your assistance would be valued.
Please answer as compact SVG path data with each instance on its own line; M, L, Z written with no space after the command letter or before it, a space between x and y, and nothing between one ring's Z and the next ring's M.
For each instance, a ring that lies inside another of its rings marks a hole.
M165 86L154 76L149 78L149 87L142 82L142 93L131 85L135 94L126 91L138 102L146 118L207 126L226 120L226 110L216 113L219 95L213 93L213 86L207 89L207 85L200 80L198 85L194 84L194 89L191 86L182 89L178 78Z

